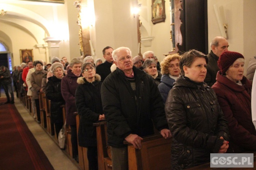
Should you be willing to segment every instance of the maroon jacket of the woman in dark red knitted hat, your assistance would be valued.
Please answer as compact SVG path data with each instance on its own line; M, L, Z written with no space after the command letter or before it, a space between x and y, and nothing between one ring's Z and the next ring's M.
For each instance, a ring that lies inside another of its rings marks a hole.
M231 137L228 152L256 151L256 130L251 110L252 82L243 77L243 86L240 86L221 75L220 71L216 80L212 88L228 120Z

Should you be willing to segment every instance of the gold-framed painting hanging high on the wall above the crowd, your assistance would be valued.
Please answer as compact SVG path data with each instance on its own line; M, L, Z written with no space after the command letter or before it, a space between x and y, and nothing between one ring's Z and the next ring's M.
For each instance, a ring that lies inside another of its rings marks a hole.
M165 22L165 0L152 0L152 22Z

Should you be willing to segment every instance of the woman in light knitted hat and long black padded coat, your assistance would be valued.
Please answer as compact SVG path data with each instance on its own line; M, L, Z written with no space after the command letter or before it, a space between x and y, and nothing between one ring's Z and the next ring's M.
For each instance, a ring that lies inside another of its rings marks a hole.
M51 100L51 122L54 123L55 133L58 136L63 126L63 114L60 106L65 104L60 88L61 79L64 76L64 68L61 63L54 63L51 70L54 75L48 78L45 94L47 99Z

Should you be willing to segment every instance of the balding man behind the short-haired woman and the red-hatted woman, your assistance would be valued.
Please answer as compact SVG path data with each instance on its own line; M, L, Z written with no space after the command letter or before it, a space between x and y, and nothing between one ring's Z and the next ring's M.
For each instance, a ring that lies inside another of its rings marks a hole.
M208 86L212 86L216 82L216 75L219 71L217 61L222 52L228 50L228 41L224 37L214 37L211 42L211 52L207 55L208 64L207 64L207 74L204 79L204 82Z

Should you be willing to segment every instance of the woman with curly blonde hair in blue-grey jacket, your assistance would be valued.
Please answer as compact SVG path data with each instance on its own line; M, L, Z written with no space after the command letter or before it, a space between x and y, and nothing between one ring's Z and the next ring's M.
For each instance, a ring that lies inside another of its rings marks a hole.
M163 99L166 102L169 91L172 89L173 83L180 77L180 55L167 55L161 62L161 83L158 89Z

